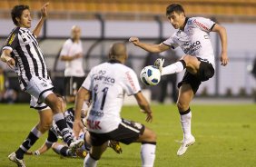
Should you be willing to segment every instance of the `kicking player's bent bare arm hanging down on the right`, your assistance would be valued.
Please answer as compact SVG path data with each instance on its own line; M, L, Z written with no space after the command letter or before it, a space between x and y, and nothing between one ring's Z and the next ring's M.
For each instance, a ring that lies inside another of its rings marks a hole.
M227 42L227 31L226 28L223 27L222 25L214 25L212 28L212 32L216 32L219 34L222 42L222 54L221 54L221 62L222 65L227 65L229 62L228 54L227 54L227 47L228 47L228 42Z

